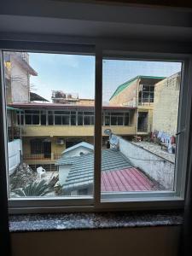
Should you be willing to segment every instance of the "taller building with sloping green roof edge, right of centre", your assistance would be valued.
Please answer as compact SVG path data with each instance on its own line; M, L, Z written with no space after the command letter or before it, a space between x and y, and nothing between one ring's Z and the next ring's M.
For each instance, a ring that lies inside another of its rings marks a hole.
M137 76L120 84L110 97L109 106L137 108L137 134L152 131L154 86L164 77Z

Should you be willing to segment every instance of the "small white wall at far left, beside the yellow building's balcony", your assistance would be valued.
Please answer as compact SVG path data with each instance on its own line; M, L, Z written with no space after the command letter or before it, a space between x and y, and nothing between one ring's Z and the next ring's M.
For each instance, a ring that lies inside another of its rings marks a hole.
M9 175L11 175L15 171L15 168L20 164L21 148L20 139L8 143Z

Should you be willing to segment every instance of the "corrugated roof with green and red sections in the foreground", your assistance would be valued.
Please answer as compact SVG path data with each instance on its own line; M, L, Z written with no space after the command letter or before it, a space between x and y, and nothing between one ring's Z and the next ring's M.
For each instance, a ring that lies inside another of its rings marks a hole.
M57 165L71 165L66 182L65 192L84 189L93 185L94 154L61 158ZM123 154L115 149L102 150L102 191L151 190L154 183L131 165Z

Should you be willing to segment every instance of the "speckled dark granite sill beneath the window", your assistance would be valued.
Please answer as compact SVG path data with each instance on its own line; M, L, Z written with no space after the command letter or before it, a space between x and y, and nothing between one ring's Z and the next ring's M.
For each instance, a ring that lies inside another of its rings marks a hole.
M98 230L172 226L182 223L181 211L25 214L10 215L9 231Z

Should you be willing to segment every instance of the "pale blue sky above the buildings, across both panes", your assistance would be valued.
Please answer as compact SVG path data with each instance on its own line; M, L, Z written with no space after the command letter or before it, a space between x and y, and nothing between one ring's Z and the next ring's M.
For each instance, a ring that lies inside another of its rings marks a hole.
M94 99L95 56L30 53L32 91L51 102L52 90ZM119 84L137 75L168 77L181 70L180 62L103 60L102 101L108 102Z

